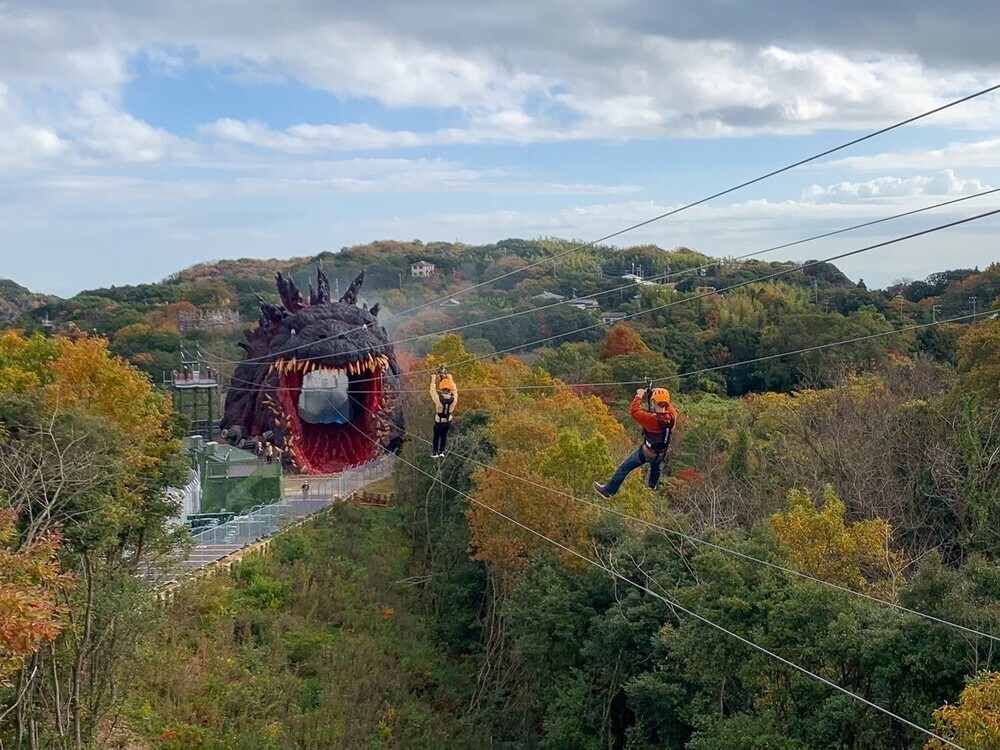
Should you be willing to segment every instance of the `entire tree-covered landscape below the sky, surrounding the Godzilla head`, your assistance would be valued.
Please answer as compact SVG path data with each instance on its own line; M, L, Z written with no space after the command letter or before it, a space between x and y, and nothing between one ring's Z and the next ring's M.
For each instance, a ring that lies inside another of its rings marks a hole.
M34 602L0 659L0 697L20 708L0 718L4 746L29 721L39 746L70 746L69 711L81 747L128 720L158 750L937 750L928 732L992 750L1000 318L963 316L969 297L995 304L1000 264L888 290L685 249L533 265L572 247L322 258L341 283L361 265L435 265L366 292L396 310L435 302L386 313L414 394L396 507L339 507L167 609L136 572L184 534L162 492L182 477L183 426L111 355L154 374L183 335L225 368L238 327L180 326L255 289L274 299L275 266L50 300L21 320L78 335L0 336L0 497L39 527L19 548L0 515L0 555L24 571L13 593ZM284 270L305 285L316 262ZM598 309L571 307L574 289ZM107 340L79 335L93 329ZM461 401L432 458L439 363ZM629 405L647 376L679 415L662 478L649 486L640 463L602 492L644 439Z

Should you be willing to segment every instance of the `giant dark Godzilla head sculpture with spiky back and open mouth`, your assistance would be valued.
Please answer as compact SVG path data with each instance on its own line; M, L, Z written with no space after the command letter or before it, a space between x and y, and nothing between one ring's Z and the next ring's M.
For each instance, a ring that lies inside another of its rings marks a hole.
M237 443L265 436L304 474L358 466L379 446L396 450L400 371L378 305L357 305L364 271L335 302L322 271L308 302L291 277L276 279L283 307L260 299L260 325L239 344L246 356L226 394L224 434Z

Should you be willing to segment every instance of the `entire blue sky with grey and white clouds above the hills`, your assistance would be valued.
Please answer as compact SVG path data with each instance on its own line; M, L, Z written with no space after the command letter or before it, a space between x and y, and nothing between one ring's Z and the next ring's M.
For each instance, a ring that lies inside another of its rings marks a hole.
M582 241L1000 83L1000 4L0 0L0 277ZM616 237L741 255L1000 187L1000 92ZM779 251L821 258L997 194ZM841 267L1000 260L997 219Z

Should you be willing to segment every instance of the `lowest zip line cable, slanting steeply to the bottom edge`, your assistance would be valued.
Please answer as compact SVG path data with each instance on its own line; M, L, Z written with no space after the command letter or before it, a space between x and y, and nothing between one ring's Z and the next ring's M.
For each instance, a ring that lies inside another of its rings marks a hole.
M361 434L364 435L366 438L368 438L368 436L365 435L364 432L361 432ZM368 439L371 440L371 438L368 438ZM372 442L375 442L375 441L373 440ZM376 445L377 445L377 443L376 443ZM863 704L865 704L865 705L867 705L867 706L869 706L871 708L874 708L875 710L877 710L877 711L885 714L886 716L889 716L890 718L893 718L896 721L899 721L900 723L905 724L906 726L910 727L911 729L916 729L918 732L921 732L922 734L925 734L928 737L931 737L932 739L936 739L939 742L943 742L946 745L949 745L950 747L957 748L958 750L964 750L964 748L962 748L961 745L958 745L958 744L952 742L951 740L946 739L946 738L940 736L939 734L937 734L935 732L932 732L929 729L925 729L924 727L920 726L919 724L916 724L916 723L910 721L909 719L906 719L906 718L900 716L899 714L894 713L894 712L890 711L889 709L880 706L879 704L875 703L874 701L870 701L867 698L865 698L865 697L863 697L861 695L858 695L857 693L855 693L855 692L853 692L851 690L848 690L847 688L842 687L842 686L838 685L837 683L835 683L835 682L833 682L831 680L826 679L825 677L822 677L822 676L816 674L815 672L811 672L810 670L806 669L805 667L799 666L798 664L796 664L795 662L791 661L790 659L786 659L785 657L780 656L779 654L775 653L774 651L771 651L770 649L765 648L764 646L761 646L758 643L755 643L754 641L750 640L749 638L745 638L744 636L741 636L741 635L738 635L737 633L734 633L733 631L731 631L731 630L723 627L722 625L719 625L718 623L713 622L709 618L707 618L707 617L705 617L703 615L700 615L700 614L698 614L697 612L694 612L691 609L688 609L687 607L681 605L677 601L675 601L673 599L670 599L670 598L664 596L663 594L659 594L659 593L651 590L647 586L643 586L641 583L639 583L637 581L633 581L631 578L629 578L629 577L627 577L625 575L622 575L621 573L619 573L614 568L607 567L603 563L600 563L600 562L598 562L596 560L593 560L592 558L587 557L583 553L578 552L577 550L575 550L575 549L573 549L573 548L571 548L571 547L563 544L562 542L559 542L559 541L557 541L555 539L552 539L551 537L546 536L542 532L533 529L531 526L528 526L527 524L524 524L524 523L518 521L517 519L512 518L511 516L509 516L509 515L501 512L501 511L497 510L496 508L493 508L492 506L490 506L490 505L482 502L481 500L473 497L472 495L469 495L469 494L467 494L465 492L462 492L461 490L459 490L459 489L457 489L455 487L452 487L449 484L446 484L445 482L443 482L441 480L440 477L435 477L434 475L430 474L429 472L424 471L423 469L421 469L416 464L411 463L410 461L407 461L406 459L401 458L399 456L397 456L397 458L399 458L399 460L401 460L403 463L407 464L411 468L416 469L421 474L424 474L425 476L427 476L431 480L433 480L435 482L438 482L442 486L447 487L448 489L450 489L452 492L455 492L456 494L465 497L467 500L469 500L472 503L475 503L477 506L483 508L484 510L489 511L490 513L493 513L494 515L496 515L496 516L504 519L505 521L507 521L509 523L512 523L515 526L520 527L521 529L527 531L528 533L533 534L534 536L537 536L539 539L542 539L543 541L546 541L549 544L552 544L555 547L558 547L559 549L562 549L564 552L567 552L567 553L573 555L574 557L579 558L580 560L586 562L587 564L589 564L589 565L591 565L591 566L593 566L595 568L598 568L599 570L603 570L605 573L607 573L608 575L610 575L612 578L618 579L618 580L620 580L620 581L622 581L624 583L627 583L629 586L632 586L633 588L636 588L636 589L638 589L640 591L646 592L650 596L652 596L652 597L654 597L654 598L659 599L660 601L662 601L664 604L666 604L671 609L680 610L681 612L683 612L684 614L688 615L689 617L693 617L694 619L698 620L699 622L701 622L701 623L703 623L705 625L708 625L708 626L710 626L712 628L715 628L716 630L718 630L718 631L720 631L722 633L725 633L729 637L734 638L734 639L740 641L744 645L750 646L751 648L756 649L757 651L760 651L761 653L763 653L763 654L765 654L767 656L770 656L772 659L775 659L775 660L781 662L785 666L791 667L792 669L800 672L801 674L806 675L807 677L811 677L811 678L813 678L813 679L815 679L815 680L817 680L819 682L822 682L824 685L826 685L828 687L831 687L834 690L837 690L837 691L843 693L844 695L850 696L851 698L854 698L855 700L857 700L857 701L859 701L859 702L861 702L861 703L863 703ZM646 576L646 578L647 578L647 580L653 580L649 576Z

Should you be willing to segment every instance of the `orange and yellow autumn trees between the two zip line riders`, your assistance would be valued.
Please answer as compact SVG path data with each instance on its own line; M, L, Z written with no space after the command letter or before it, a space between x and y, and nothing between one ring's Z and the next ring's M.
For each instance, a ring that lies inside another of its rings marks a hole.
M599 511L573 498L593 500L591 482L610 475L629 444L624 428L600 399L578 396L514 357L498 363L468 362L470 358L458 336L446 336L422 366L449 366L458 382L462 413L490 413L488 429L497 455L490 468L473 472L471 494L523 524L470 501L474 557L502 573L519 570L533 551L551 548L527 528L589 554L589 526ZM516 390L524 386L551 387ZM633 495L623 491L617 499L634 503ZM563 555L570 564L578 562L571 553Z

